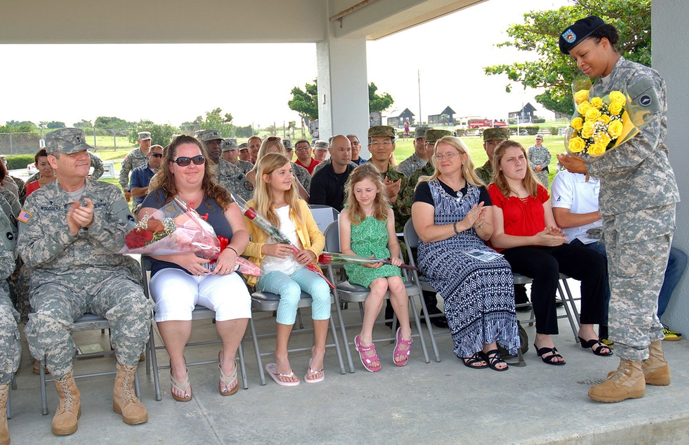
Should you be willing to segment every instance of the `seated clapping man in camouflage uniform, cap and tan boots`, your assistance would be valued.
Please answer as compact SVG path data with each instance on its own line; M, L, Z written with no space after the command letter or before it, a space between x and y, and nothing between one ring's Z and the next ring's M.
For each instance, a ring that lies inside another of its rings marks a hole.
M90 148L81 129L45 135L57 180L32 193L17 218L17 248L31 268L33 312L24 331L32 356L48 366L57 388L56 435L78 428L81 398L72 369L72 323L86 312L110 322L117 359L113 410L126 424L148 420L133 384L151 329L152 306L143 294L141 275L132 275L130 257L112 253L124 246L134 218L119 188L87 178Z

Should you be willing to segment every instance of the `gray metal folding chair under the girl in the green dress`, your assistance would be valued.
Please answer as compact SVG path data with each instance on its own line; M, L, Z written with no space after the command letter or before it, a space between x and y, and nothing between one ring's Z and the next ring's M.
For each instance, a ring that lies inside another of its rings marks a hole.
M333 223L328 226L328 228L325 230L325 249L328 252L340 252L340 227L338 225L338 221L333 221ZM353 341L349 341L349 337L347 337L347 327L345 326L345 320L342 318L342 310L340 309L340 302L341 301L349 301L353 303L359 303L360 307L360 312L362 313L363 317L363 305L362 303L366 301L366 297L369 295L369 288L364 287L361 285L349 283L349 281L336 281L335 274L333 273L333 268L331 265L327 266L327 271L329 275L329 279L331 282L336 286L336 288L333 290L333 295L335 296L335 307L338 312L338 321L340 323L340 331L342 332L342 338L343 344L345 345L345 353L347 354L347 364L349 365L349 372L353 373L354 372L354 364L351 358L351 352L349 351L349 346L353 345ZM418 334L412 334L412 337L417 337L420 340L421 343L421 349L424 354L424 360L426 363L430 363L431 360L429 359L429 354L428 351L426 350L426 342L424 340L423 332L421 329L421 321L419 318L419 313L416 310L416 305L414 303L414 297L418 296L422 300L422 310L424 316L426 316L426 319L428 317L428 313L426 312L426 307L423 304L423 298L422 298L422 292L421 292L421 287L417 283L413 283L409 277L409 274L406 273L407 271L402 269L402 274L403 276L407 279L404 282L405 287L407 288L407 294L409 295L409 303L411 304L411 314L413 314L414 321L416 323L416 330ZM390 298L390 293L387 292L384 296L385 299ZM384 321L378 321L376 323L383 323ZM360 326L360 323L356 324ZM352 326L352 325L350 325ZM385 340L395 340L395 337L387 337L387 338L376 338L375 341L385 341Z

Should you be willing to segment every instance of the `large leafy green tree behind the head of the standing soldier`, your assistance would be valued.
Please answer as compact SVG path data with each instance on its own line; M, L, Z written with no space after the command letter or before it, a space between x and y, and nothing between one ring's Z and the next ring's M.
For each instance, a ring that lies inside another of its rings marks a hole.
M515 47L535 52L535 61L484 67L486 74L505 74L512 83L524 88L544 89L536 100L544 108L570 115L574 111L571 85L582 74L575 61L559 51L559 35L571 23L595 14L612 23L619 32L617 49L628 60L649 65L651 62L650 0L574 0L575 5L557 10L531 11L524 14L524 23L511 25L509 41L498 47Z

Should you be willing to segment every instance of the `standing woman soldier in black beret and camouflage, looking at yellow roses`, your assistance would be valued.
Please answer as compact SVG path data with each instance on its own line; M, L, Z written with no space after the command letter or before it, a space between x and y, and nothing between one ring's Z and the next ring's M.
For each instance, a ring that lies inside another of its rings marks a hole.
M658 294L675 232L679 191L663 140L668 131L665 81L655 71L627 61L615 49L613 25L590 16L560 34L559 48L579 69L596 78L590 97L611 91L647 114L634 138L584 161L570 155L558 160L574 173L600 180L599 210L610 276L609 338L620 357L608 380L590 387L598 402L643 397L646 384L670 384L663 325L657 317Z

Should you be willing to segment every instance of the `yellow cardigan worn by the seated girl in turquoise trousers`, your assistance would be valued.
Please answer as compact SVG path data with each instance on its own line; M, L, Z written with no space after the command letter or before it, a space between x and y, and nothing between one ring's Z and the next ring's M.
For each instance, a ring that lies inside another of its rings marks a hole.
M325 237L320 230L318 230L318 224L316 224L313 215L311 215L309 204L303 199L299 199L298 202L302 216L304 217L305 225L299 226L296 224L292 209L289 209L289 217L294 222L294 226L296 226L297 237L302 243L302 246L306 250L311 250L311 252L316 254L316 259L318 260L318 257L323 253L323 249L325 248ZM247 246L243 254L249 257L249 261L260 267L260 261L265 257L265 254L261 253L261 248L263 248L265 241L268 239L268 235L263 230L260 230L251 219L244 217L244 222L247 225L247 230L249 230L251 241L249 241L249 246ZM247 284L250 286L256 285L258 281L257 276L246 276L246 279Z

